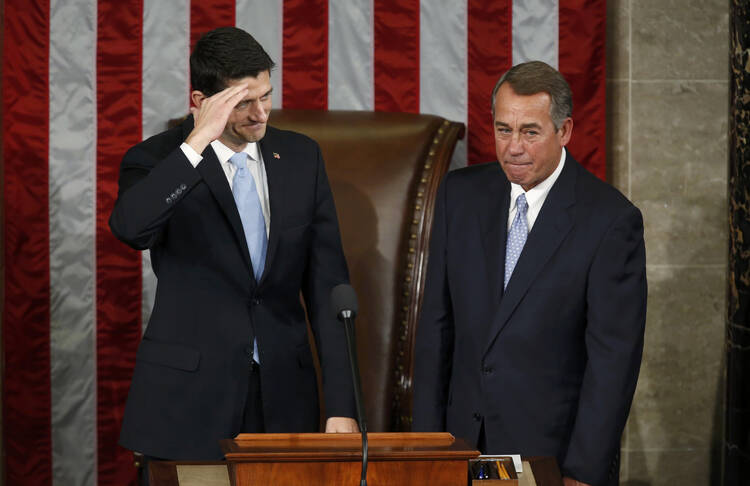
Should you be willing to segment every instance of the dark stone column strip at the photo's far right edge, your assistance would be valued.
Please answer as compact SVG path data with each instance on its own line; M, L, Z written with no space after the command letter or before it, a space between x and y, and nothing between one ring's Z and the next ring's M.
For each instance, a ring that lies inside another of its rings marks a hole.
M724 486L750 484L750 0L729 6L729 261Z

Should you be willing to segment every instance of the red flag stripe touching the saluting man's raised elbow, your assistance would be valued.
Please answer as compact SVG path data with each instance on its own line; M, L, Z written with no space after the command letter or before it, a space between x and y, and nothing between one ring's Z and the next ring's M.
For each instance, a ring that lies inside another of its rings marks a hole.
M113 447L140 337L141 263L109 231L117 192L112 161L141 138L140 2L98 2L96 49L96 452L103 484L130 472L132 455ZM60 332L63 332L60 330ZM54 424L53 424L54 425ZM130 458L130 460L128 460Z

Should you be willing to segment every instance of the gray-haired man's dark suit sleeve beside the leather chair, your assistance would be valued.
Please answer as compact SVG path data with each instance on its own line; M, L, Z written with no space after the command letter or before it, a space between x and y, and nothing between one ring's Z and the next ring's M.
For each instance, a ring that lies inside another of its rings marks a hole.
M430 237L422 310L417 326L412 430L443 431L453 358L454 322L448 287L447 179L440 185Z

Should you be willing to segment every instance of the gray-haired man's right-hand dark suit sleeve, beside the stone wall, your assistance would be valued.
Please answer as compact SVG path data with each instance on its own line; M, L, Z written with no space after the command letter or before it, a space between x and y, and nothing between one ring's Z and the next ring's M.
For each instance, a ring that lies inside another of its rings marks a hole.
M646 253L640 211L628 206L605 234L589 272L587 365L562 470L589 484L617 467L646 322Z

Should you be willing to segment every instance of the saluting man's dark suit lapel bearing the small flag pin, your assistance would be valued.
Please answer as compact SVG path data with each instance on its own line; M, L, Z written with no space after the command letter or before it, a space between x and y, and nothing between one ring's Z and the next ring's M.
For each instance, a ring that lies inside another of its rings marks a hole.
M268 235L268 250L266 251L266 264L263 267L263 275L260 281L268 274L268 269L273 263L273 257L276 255L276 249L279 246L281 228L283 226L283 204L284 201L284 168L282 164L282 150L278 147L278 140L275 136L274 129L268 127L266 136L258 143L260 151L263 154L263 164L266 167L266 178L268 180L268 200L271 213L271 228ZM278 158L277 158L278 156Z

